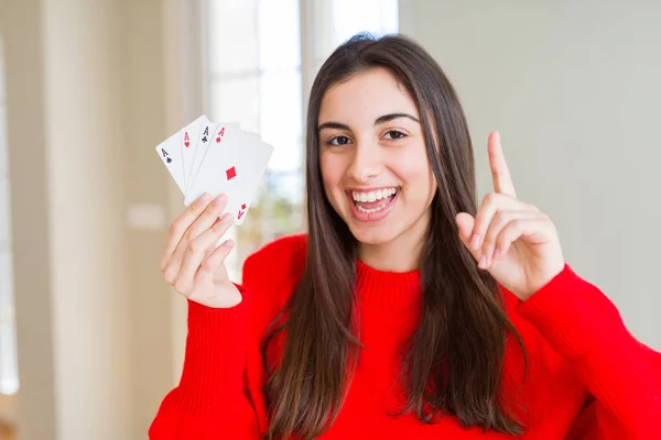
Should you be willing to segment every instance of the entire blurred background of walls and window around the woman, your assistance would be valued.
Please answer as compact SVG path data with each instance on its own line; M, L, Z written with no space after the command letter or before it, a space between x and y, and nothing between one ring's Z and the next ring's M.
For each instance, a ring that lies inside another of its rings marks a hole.
M661 3L0 0L0 439L144 439L186 305L156 266L182 196L154 146L206 113L275 147L228 268L303 231L303 116L361 31L416 38L465 105L480 194L518 195L661 350Z

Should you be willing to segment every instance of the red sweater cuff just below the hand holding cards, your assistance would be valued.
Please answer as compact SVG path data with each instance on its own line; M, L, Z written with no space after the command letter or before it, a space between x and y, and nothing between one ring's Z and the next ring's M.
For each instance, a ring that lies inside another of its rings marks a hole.
M243 299L231 308L209 308L188 300L186 358L180 383L187 414L221 411L242 393L250 315L250 292L236 285Z

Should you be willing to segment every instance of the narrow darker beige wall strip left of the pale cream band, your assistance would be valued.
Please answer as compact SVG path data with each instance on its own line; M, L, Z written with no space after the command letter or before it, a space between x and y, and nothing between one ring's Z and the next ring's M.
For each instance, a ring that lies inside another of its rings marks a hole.
M55 438L53 280L50 271L43 29L37 0L7 1L0 14L7 87L13 286L19 376L18 424L23 439ZM40 111L41 110L41 111ZM22 142L21 133L30 133ZM37 422L39 421L39 422Z

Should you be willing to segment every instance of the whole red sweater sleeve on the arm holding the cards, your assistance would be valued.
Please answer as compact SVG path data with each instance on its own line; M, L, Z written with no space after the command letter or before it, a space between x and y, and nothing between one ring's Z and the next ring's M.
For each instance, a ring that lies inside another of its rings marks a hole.
M149 438L258 439L257 415L243 389L250 290L214 309L188 301L188 336L180 385L163 399Z

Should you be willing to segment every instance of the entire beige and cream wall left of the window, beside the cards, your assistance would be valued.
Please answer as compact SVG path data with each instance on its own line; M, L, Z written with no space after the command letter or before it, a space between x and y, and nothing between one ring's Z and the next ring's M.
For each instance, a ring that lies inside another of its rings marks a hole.
M184 3L0 8L21 440L143 439L175 383L158 258L176 197L154 146L182 124Z

